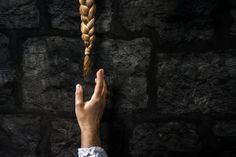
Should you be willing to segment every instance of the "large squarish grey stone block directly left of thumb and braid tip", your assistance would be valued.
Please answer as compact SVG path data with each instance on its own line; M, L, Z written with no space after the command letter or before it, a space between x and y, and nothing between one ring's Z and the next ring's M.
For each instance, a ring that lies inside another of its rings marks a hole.
M82 82L82 42L49 37L29 39L23 53L25 109L74 109L74 87Z

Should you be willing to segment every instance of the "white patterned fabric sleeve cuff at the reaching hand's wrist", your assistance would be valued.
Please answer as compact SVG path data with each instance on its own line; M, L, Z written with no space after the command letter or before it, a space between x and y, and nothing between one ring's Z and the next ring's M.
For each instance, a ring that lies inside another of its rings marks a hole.
M108 157L102 147L78 148L79 157Z

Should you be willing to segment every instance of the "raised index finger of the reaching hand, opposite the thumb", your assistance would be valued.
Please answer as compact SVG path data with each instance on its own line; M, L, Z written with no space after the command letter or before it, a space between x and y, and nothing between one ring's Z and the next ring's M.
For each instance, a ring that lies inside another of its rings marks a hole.
M103 79L104 79L104 71L103 71L103 69L100 69L97 72L96 86L94 89L92 99L100 98L100 96L102 95Z

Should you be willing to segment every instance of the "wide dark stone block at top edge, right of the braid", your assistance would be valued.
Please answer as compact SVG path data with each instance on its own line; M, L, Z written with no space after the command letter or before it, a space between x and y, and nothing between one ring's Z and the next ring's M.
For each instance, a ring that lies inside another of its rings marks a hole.
M209 18L216 5L215 0L121 0L119 14L129 31L152 27L170 47L210 39L214 30Z

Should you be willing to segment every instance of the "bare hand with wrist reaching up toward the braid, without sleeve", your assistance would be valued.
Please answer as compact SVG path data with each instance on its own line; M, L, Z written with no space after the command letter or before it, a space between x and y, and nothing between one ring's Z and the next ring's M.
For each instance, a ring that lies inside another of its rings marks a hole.
M100 121L104 112L107 85L104 79L104 70L96 74L96 86L89 101L84 102L83 87L76 85L75 113L81 130L81 147L100 146Z

